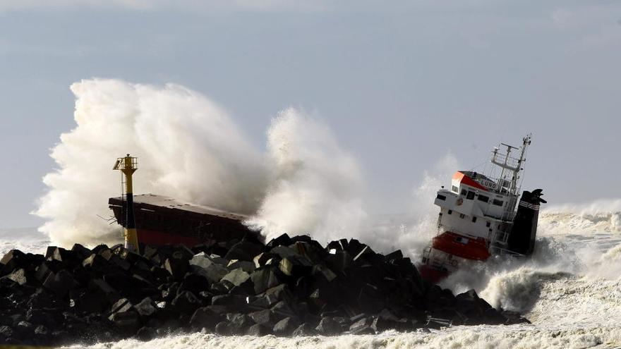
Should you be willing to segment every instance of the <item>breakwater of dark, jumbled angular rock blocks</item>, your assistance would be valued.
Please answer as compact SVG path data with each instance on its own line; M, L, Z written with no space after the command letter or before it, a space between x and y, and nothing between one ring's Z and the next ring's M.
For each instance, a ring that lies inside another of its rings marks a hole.
M18 250L0 262L0 343L58 345L176 331L308 336L527 322L474 290L423 281L399 250L308 236L92 250Z

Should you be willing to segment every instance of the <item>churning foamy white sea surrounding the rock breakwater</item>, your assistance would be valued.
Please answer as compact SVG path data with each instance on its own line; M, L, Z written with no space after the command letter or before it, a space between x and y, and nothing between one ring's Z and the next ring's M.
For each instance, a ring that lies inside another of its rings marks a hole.
M539 219L531 259L473 264L442 283L454 292L474 288L490 304L517 310L532 324L296 338L171 333L149 342L126 340L90 348L621 348L618 207L609 202L547 209ZM48 244L44 235L32 231L0 231L3 254L13 247L42 253Z

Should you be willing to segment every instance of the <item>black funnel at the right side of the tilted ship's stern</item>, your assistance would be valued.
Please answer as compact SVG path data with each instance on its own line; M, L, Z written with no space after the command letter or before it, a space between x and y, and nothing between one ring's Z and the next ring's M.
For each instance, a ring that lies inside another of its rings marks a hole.
M520 255L531 255L533 253L537 235L539 205L546 203L541 198L543 195L541 191L541 189L535 189L532 192L527 190L522 192L511 233L507 240L508 250Z

